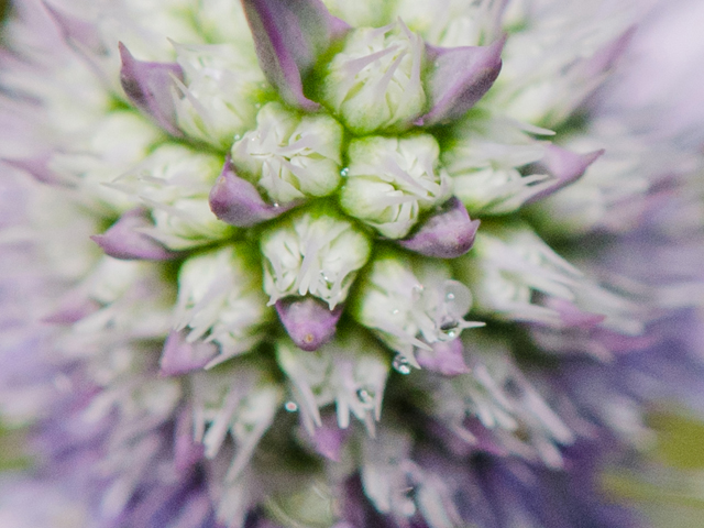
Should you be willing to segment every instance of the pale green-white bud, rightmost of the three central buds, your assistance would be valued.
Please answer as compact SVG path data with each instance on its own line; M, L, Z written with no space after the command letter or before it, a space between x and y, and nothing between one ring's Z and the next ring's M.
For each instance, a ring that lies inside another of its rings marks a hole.
M438 168L440 147L427 134L365 138L350 144L350 167L340 191L342 209L389 239L402 239L421 212L450 197Z

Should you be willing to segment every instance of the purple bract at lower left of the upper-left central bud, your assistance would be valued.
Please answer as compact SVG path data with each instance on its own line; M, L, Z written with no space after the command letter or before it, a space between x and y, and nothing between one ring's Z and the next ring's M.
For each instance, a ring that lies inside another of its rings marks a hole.
M254 185L234 173L229 157L210 190L209 201L210 210L219 220L238 228L249 228L271 220L296 205L266 204Z

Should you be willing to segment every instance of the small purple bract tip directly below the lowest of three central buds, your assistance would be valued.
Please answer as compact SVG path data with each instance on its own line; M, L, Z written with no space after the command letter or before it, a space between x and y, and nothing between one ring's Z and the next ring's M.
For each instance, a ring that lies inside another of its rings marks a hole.
M318 350L332 339L342 305L333 310L315 297L287 297L276 301L276 312L290 339L301 350Z

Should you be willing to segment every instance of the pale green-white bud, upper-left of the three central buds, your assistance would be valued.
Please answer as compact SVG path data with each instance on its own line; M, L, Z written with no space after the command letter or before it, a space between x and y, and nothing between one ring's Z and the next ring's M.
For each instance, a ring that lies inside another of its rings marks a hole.
M271 102L256 129L232 145L238 174L274 204L327 196L340 184L342 127L329 116L299 116Z

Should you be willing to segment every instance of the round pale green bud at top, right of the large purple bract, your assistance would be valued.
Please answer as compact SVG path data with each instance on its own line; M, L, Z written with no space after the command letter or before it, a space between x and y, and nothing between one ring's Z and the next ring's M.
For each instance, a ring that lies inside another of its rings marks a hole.
M402 21L353 30L323 73L322 102L355 134L406 129L426 108L424 53Z

